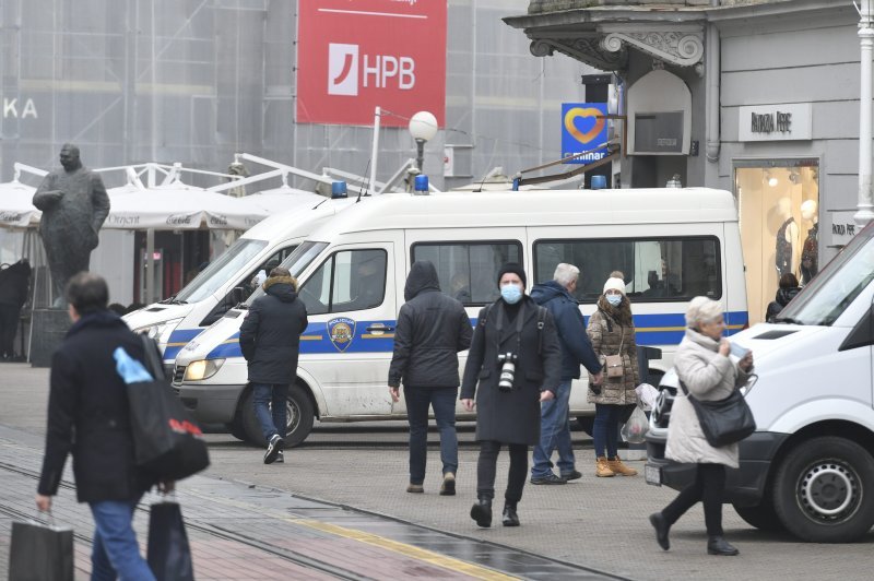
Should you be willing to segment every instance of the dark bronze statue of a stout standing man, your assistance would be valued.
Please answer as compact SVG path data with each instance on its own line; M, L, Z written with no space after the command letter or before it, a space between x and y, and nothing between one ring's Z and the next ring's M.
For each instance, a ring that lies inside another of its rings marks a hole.
M39 235L46 247L55 292L55 306L63 306L67 282L88 270L97 233L109 214L109 197L101 176L82 165L79 147L61 147L61 166L49 173L34 193L43 211Z

